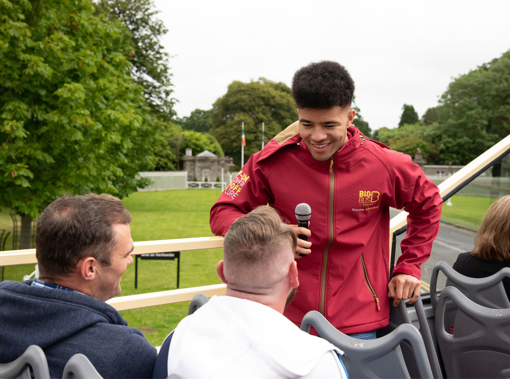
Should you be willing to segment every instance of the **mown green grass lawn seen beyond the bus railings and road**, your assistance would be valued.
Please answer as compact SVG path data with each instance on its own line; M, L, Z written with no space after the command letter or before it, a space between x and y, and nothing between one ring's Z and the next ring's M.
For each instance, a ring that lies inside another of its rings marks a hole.
M209 210L220 190L173 190L136 192L123 199L131 212L131 234L134 241L212 236ZM480 220L495 201L489 197L453 196L452 206L443 206L442 220L470 229L477 229ZM0 230L12 230L9 212L0 212ZM11 248L9 241L7 249ZM221 283L216 263L221 249L184 251L181 254L181 288ZM34 265L5 268L5 279L21 281ZM122 294L132 295L176 288L176 261L138 261L138 289L134 288L135 264L122 276ZM122 311L130 326L140 329L153 345L160 345L165 336L187 315L188 302Z

